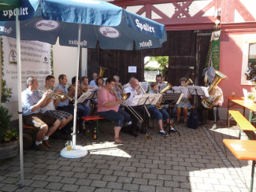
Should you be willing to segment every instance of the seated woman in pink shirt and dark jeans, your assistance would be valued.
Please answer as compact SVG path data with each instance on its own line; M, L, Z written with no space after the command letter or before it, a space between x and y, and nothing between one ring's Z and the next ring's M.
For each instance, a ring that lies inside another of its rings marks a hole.
M115 79L109 77L106 79L106 86L98 90L98 115L115 123L114 141L122 144L124 142L119 138L119 132L123 124L130 120L130 115L118 107L118 104L122 104L123 101L117 97L117 93L113 90L114 86Z

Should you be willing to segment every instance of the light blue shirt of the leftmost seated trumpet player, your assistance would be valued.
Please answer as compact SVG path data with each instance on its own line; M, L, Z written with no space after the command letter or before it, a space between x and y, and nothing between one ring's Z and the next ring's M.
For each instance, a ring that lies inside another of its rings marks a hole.
M40 100L39 91L32 92L28 88L21 93L21 102L22 102L22 115L28 116L33 113L39 113L40 109L36 109L32 112L34 105Z

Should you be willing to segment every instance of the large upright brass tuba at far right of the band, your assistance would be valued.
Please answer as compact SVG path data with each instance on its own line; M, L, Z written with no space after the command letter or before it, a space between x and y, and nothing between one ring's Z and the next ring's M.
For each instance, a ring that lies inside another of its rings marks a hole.
M222 79L227 78L227 76L225 76L221 72L218 72L217 70L215 70L215 73L216 75L212 83L210 83L210 87L208 88L208 92L210 96L208 98L202 98L202 105L206 109L212 109L213 103L217 102L222 97L222 91L220 89L216 89L216 87L217 87L217 84L220 83Z

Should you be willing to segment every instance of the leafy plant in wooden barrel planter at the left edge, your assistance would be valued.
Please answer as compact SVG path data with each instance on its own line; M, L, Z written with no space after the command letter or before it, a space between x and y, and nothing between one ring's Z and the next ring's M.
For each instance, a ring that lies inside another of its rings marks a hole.
M12 114L0 105L0 159L14 157L19 151L19 134L16 128L9 127Z

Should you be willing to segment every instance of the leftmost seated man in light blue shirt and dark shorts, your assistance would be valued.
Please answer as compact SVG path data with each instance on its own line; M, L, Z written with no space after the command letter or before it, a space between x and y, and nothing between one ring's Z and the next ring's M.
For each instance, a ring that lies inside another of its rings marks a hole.
M37 150L48 150L50 147L48 138L56 131L61 122L54 116L39 113L39 108L45 105L47 101L48 93L45 92L43 97L40 98L39 92L36 91L38 85L38 81L35 77L28 77L28 88L22 91L21 94L22 116L24 124L39 130L36 134L35 148Z

